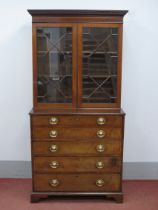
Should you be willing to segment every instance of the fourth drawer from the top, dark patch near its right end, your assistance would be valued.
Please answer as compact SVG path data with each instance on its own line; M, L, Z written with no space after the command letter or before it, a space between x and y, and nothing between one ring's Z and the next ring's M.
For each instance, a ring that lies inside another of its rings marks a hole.
M119 157L34 157L33 169L37 173L52 172L110 172L119 173Z

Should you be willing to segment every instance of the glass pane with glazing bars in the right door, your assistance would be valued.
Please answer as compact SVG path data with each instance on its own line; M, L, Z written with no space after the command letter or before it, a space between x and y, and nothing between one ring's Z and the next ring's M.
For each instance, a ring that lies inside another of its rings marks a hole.
M83 28L83 103L115 103L117 28Z

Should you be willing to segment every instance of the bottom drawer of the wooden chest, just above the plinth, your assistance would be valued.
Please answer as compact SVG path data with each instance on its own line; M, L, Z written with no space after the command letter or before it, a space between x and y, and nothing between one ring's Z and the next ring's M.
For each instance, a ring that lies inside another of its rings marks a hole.
M117 192L120 174L35 174L37 192Z

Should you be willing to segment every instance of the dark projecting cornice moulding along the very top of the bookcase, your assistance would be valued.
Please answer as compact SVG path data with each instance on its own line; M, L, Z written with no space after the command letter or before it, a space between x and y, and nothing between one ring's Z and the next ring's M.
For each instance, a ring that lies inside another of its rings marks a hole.
M119 16L123 17L128 10L38 10L28 9L32 16Z

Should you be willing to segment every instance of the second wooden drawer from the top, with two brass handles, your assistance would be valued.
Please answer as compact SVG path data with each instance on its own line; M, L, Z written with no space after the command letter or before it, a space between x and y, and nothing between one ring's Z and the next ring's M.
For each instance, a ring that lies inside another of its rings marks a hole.
M55 139L122 139L121 128L98 127L74 128L74 127L34 127L32 129L32 138L34 140L55 140Z

